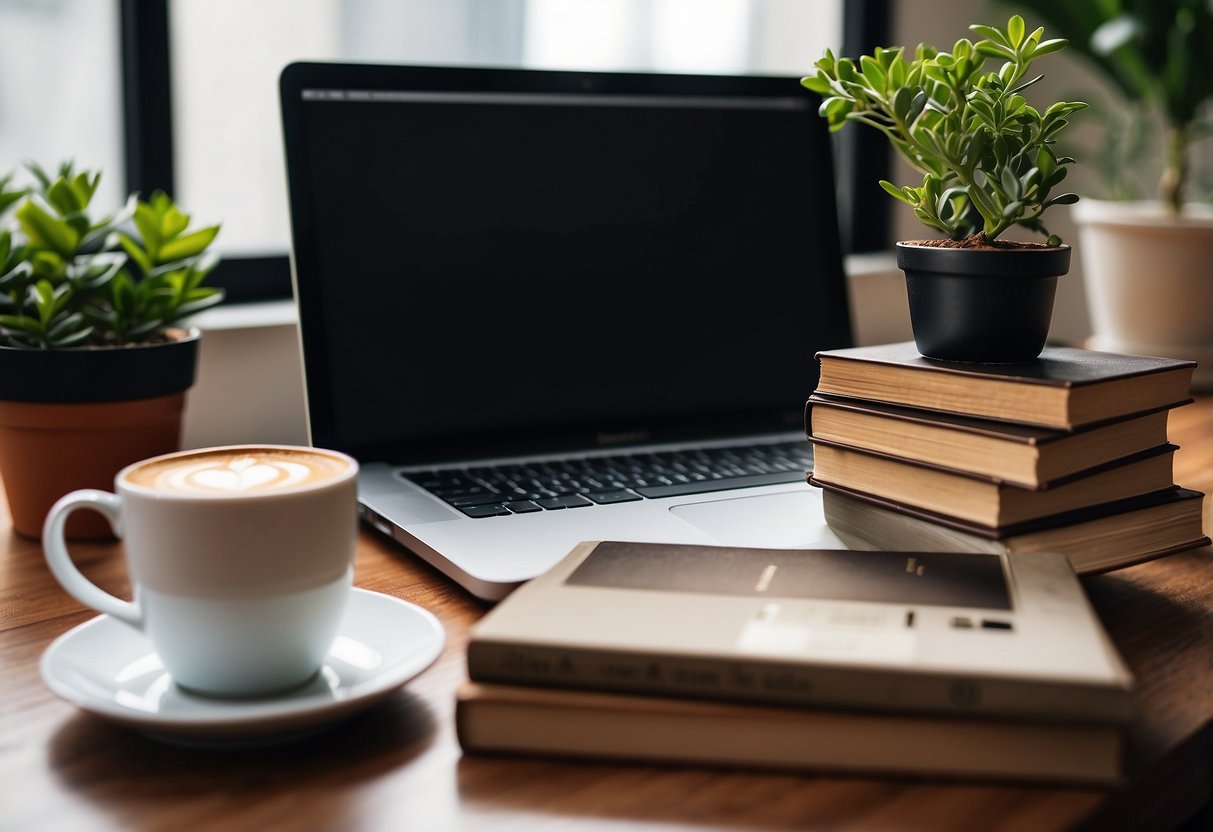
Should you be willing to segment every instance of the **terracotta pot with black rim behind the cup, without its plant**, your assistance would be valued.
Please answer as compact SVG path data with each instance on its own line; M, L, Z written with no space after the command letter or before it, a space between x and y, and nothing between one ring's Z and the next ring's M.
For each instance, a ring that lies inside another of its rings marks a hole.
M0 477L13 530L41 535L51 505L82 488L112 490L114 474L181 446L197 330L142 347L25 351L0 347ZM110 537L79 512L68 536Z

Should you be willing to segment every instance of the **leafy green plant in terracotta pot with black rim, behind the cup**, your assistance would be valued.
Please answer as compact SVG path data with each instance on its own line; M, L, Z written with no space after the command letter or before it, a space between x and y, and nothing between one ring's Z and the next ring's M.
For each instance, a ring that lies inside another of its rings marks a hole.
M177 450L199 341L180 321L223 295L201 285L217 226L192 230L159 192L95 220L99 172L28 167L29 187L0 178L0 477L13 529L38 536L63 494Z

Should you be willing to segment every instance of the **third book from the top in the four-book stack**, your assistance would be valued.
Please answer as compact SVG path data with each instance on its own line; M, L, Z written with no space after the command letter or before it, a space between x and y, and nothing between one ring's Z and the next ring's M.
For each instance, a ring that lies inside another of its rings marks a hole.
M1177 450L1174 445L1160 445L1024 489L818 438L813 445L809 481L814 485L843 486L995 529L1171 488Z

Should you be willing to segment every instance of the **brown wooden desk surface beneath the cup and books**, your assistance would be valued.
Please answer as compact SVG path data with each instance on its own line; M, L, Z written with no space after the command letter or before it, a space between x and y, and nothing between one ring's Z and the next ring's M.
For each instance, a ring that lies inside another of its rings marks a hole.
M1213 398L1172 416L1177 480L1213 491ZM1206 529L1209 525L1206 497ZM0 828L1168 828L1213 782L1213 549L1086 581L1138 674L1129 785L1120 791L867 780L463 757L452 726L468 627L486 609L376 535L357 582L428 608L439 661L334 729L262 751L198 752L80 713L38 660L93 616L55 583L38 543L0 519ZM81 568L127 589L115 546L78 546ZM1206 815L1206 819L1209 816Z

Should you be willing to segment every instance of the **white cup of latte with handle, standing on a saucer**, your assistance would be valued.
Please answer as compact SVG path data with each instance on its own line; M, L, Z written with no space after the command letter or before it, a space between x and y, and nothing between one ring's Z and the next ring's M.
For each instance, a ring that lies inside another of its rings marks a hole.
M239 445L123 468L115 491L51 508L46 560L80 603L143 633L180 686L212 696L289 690L320 668L353 582L358 463L336 451ZM92 509L124 541L132 600L89 581L64 541Z

